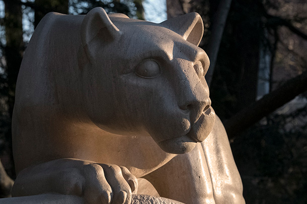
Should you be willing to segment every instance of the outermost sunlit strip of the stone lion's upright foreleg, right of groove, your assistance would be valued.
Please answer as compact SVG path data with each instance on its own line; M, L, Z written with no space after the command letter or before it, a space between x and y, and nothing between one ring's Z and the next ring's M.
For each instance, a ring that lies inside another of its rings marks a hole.
M218 117L213 130L201 143L209 168L216 204L243 204L243 186L227 133Z

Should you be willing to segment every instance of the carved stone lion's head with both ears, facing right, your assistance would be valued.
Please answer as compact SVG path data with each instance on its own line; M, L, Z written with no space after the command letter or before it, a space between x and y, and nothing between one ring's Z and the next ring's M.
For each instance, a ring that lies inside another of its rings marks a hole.
M191 151L215 120L204 78L209 59L198 47L201 17L191 13L161 24L109 17L96 8L81 26L89 117L112 133L149 134L166 152Z

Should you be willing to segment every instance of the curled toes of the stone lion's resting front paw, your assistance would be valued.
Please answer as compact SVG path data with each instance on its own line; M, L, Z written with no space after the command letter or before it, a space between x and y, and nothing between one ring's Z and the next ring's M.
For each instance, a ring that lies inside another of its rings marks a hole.
M131 194L137 190L137 179L126 167L108 164L87 164L84 198L86 203L131 203Z

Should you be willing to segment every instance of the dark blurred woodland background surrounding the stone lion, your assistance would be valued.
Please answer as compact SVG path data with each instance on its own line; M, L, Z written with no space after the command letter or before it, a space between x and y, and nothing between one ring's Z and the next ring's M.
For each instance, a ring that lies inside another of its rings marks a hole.
M80 15L94 7L156 23L199 13L212 106L228 133L246 202L307 203L305 0L0 0L0 197L9 196L9 177L16 177L15 85L34 29L48 12Z

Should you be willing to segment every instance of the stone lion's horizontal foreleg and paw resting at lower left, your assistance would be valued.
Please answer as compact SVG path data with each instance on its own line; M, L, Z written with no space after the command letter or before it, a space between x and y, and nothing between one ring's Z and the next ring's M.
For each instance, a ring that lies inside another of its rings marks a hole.
M123 166L77 159L57 159L24 169L13 186L13 196L56 192L78 195L86 204L130 204L137 179Z

